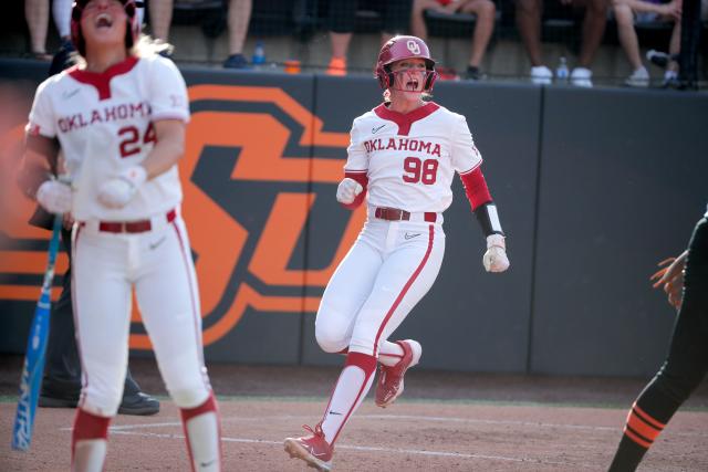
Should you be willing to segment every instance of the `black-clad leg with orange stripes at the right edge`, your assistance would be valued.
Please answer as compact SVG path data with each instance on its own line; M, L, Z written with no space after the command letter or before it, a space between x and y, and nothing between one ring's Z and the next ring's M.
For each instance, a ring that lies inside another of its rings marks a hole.
M627 416L610 472L634 471L676 410L708 373L708 212L688 244L684 297L668 356Z

